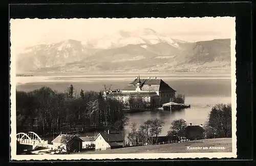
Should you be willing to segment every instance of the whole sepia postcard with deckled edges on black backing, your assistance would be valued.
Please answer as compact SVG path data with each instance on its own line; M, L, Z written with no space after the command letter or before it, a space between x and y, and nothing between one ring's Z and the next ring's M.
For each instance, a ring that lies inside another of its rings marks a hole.
M10 19L11 159L237 157L235 21Z

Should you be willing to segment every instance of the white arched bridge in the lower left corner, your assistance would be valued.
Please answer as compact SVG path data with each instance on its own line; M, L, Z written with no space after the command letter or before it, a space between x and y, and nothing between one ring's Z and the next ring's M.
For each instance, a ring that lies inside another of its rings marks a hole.
M48 141L42 140L35 132L30 131L28 133L19 132L16 134L19 144L30 145L32 150L39 147L48 147Z

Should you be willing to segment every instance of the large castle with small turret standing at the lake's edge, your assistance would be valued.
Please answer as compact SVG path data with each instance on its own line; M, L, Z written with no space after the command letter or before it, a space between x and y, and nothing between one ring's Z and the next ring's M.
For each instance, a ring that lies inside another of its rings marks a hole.
M104 96L111 96L122 103L129 102L130 98L141 98L147 105L159 107L163 103L173 101L176 91L166 82L157 77L141 79L136 77L122 90L106 91Z

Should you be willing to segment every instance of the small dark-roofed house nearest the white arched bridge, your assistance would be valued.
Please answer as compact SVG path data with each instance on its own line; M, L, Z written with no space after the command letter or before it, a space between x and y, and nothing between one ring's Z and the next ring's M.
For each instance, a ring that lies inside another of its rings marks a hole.
M70 147L71 152L79 152L82 150L82 140L75 135L59 134L53 141L53 148L63 148L67 150L67 145Z

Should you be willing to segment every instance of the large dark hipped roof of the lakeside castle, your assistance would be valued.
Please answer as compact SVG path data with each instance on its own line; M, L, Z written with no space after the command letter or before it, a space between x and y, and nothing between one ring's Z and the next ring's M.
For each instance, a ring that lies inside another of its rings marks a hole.
M140 79L141 91L161 91L161 92L176 92L162 79ZM135 91L139 79L136 78L129 85L123 88L124 91Z

